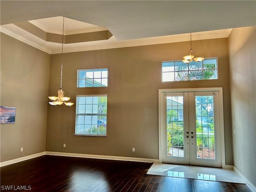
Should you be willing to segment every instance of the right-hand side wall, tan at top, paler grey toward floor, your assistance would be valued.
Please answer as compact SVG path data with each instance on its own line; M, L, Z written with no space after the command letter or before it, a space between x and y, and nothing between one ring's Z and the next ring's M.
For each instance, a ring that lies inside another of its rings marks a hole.
M234 166L256 186L256 27L234 28L228 48Z

